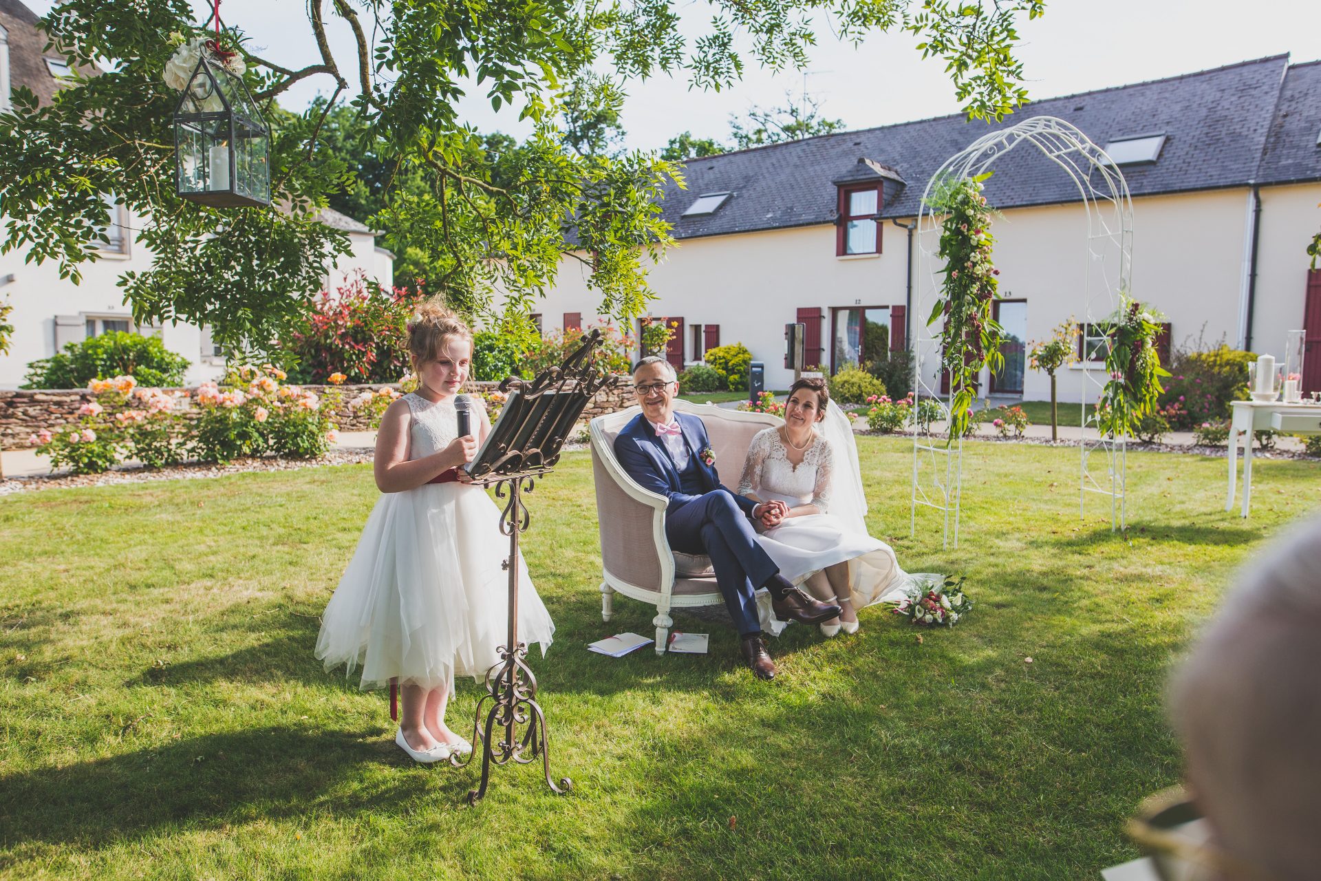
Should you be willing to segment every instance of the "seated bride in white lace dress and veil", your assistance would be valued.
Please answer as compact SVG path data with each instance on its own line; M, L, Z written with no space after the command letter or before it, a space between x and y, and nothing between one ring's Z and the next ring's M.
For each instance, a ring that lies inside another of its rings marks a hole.
M778 502L764 515L757 542L781 575L840 605L840 617L822 623L828 637L855 633L859 609L905 596L917 577L900 568L890 546L867 534L853 432L822 379L794 383L785 424L753 437L738 494Z

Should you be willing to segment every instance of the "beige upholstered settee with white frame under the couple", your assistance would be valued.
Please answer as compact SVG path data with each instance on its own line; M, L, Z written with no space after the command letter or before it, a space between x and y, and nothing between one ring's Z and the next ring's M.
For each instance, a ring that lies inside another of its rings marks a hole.
M745 413L711 404L675 402L675 411L699 416L711 437L720 479L737 490L753 435L783 420L768 413ZM614 594L641 600L657 608L657 652L668 641L670 609L721 605L720 588L711 560L670 549L664 536L666 498L638 486L614 458L614 437L638 415L629 407L597 416L590 423L592 478L596 512L601 524L601 618L609 621Z

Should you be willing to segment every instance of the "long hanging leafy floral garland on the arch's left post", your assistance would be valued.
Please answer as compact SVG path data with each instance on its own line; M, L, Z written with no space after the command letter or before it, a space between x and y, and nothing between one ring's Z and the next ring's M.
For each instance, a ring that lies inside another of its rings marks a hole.
M945 260L941 296L927 318L927 326L942 317L941 366L950 374L950 440L963 437L972 417L972 395L982 367L1000 370L1004 329L995 320L1000 269L991 262L991 221L995 209L982 194L982 182L991 172L976 177L947 177L935 181L927 205L945 214L941 226L939 256Z

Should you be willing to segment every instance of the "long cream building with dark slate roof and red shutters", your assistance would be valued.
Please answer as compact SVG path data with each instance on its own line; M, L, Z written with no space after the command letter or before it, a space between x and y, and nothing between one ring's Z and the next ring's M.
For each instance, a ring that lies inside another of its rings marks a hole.
M1287 332L1305 328L1305 388L1321 391L1321 271L1305 254L1321 229L1321 62L1276 55L1052 98L1000 125L1037 115L1078 127L1123 172L1132 293L1168 317L1162 349L1223 341L1279 359ZM690 160L687 189L670 186L663 203L678 247L650 273L651 316L680 328L671 363L742 342L768 388L786 388L787 322L807 328L806 362L831 371L910 345L926 318L914 309L918 248L937 242L904 225L942 162L991 128L942 116ZM1030 145L995 169L985 195L1003 214L997 312L1011 342L1004 371L980 388L1040 400L1049 380L1026 367L1025 343L1082 317L1087 213ZM565 260L539 320L546 332L584 326L596 305ZM1061 399L1079 400L1082 371L1099 366L1065 371Z

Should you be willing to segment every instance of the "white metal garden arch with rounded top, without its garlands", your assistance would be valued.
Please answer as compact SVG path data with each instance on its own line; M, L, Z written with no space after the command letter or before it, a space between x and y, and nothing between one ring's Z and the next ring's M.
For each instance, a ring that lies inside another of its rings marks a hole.
M1132 267L1133 205L1128 184L1106 152L1078 128L1054 116L1034 116L1017 125L991 132L950 157L930 177L918 217L918 291L913 333L914 400L935 400L941 420L919 420L913 437L913 503L910 534L917 531L917 509L937 509L945 518L945 546L950 543L950 519L954 519L954 547L959 546L959 506L963 490L963 440L947 441L943 424L948 423L950 400L958 388L941 391L941 341L938 328L926 320L941 296L938 243L941 218L927 199L931 188L945 177L976 177L993 170L996 162L1020 144L1032 144L1042 156L1058 165L1078 188L1087 215L1082 279L1082 347L1089 361L1103 362L1110 351L1110 338L1091 335L1096 321L1111 316L1119 306L1120 291L1129 291ZM1069 281L1069 280L1065 280ZM923 372L922 365L929 370ZM930 370L935 365L934 372ZM1125 439L1102 436L1096 428L1094 404L1106 384L1104 370L1082 370L1082 462L1078 478L1078 514L1086 511L1087 493L1110 497L1111 530L1124 528ZM918 411L919 412L919 411ZM1099 460L1099 461L1098 461Z

